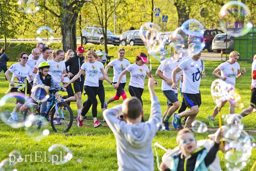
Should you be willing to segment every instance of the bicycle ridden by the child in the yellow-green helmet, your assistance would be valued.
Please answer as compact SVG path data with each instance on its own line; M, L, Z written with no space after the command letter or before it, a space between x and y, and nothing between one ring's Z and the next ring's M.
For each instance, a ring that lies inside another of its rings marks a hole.
M50 124L52 129L57 132L67 132L73 123L73 111L70 108L68 104L66 104L65 101L58 101L57 95L55 94L60 89L56 89L53 87L49 88L50 93L52 94L52 97L48 98L49 102L49 108L45 113L46 119L50 120ZM33 115L40 115L40 107L41 104L38 102L36 103L29 103L27 104L26 109L24 110L23 119L26 120L26 117L30 114ZM60 124L54 124L54 116L57 116L57 118L60 120ZM38 129L40 127L38 126Z

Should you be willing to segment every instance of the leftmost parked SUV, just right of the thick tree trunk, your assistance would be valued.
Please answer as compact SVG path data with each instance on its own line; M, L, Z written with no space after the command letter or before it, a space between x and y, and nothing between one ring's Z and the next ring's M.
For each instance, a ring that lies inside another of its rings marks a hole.
M106 38L107 44L120 44L119 37L113 35L113 33L109 29L106 29ZM91 42L94 44L104 44L104 38L101 27L87 26L82 29L82 43L86 44L87 42Z

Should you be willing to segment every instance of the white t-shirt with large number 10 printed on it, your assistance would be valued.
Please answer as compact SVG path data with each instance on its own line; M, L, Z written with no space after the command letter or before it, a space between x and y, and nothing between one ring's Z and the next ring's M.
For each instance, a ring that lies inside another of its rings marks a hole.
M192 57L182 61L178 67L183 70L183 82L181 91L185 93L199 93L201 82L201 60L193 60Z

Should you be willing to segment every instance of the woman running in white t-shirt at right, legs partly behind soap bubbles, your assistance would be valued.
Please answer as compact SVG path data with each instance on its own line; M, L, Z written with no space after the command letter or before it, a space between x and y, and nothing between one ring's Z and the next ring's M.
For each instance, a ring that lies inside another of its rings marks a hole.
M216 69L213 70L212 74L216 76L219 79L222 79L226 83L231 84L232 86L235 86L235 78L239 78L243 73L245 73L245 69L242 68L240 71L240 65L236 62L239 58L239 53L237 51L232 51L229 54L229 59L220 65ZM218 72L221 72L221 75L218 74ZM214 127L213 121L215 116L218 113L218 110L225 105L226 101L223 101L221 104L221 107L218 108L217 105L214 107L212 115L208 115L208 121L210 127ZM234 113L234 103L229 102L229 113Z

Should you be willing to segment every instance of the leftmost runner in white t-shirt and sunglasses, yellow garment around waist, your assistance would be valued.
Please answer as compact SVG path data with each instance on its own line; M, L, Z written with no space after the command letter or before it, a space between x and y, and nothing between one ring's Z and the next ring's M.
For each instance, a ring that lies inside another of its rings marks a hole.
M28 65L26 65L28 56L26 52L22 52L19 56L20 62L12 64L9 69L4 73L6 79L9 82L9 89L6 93L9 92L22 92L23 97L18 97L16 100L16 105L12 112L10 113L10 117L8 118L9 122L16 122L18 120L18 110L25 102L25 79L29 76L30 80L33 80L31 69ZM10 79L9 74L12 73L12 77ZM21 94L22 94L21 93Z

